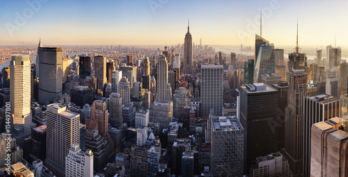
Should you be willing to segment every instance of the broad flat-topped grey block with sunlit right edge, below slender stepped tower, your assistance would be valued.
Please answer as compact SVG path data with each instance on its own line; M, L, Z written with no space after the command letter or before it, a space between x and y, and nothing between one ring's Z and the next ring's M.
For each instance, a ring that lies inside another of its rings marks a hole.
M150 122L159 123L160 130L173 121L173 101L155 100L150 108Z

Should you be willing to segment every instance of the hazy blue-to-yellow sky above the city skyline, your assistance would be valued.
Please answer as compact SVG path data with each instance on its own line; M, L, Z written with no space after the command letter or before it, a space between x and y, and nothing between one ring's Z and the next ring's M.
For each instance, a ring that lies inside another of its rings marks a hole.
M40 35L44 45L179 44L188 18L196 44L202 37L203 44L253 45L263 9L262 37L276 46L296 45L298 18L300 46L334 44L336 35L336 44L345 47L347 5L337 0L1 1L0 45L37 44Z

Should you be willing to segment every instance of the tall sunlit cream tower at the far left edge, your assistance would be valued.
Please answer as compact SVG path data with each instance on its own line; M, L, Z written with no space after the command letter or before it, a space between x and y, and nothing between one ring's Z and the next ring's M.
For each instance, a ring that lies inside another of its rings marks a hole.
M12 56L10 62L11 133L24 148L31 135L31 66L29 56Z

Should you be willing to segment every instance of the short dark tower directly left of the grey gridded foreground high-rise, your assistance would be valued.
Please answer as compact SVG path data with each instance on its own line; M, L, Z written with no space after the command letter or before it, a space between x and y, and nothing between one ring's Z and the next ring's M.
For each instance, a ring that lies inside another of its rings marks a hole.
M47 125L42 125L31 129L31 153L39 159L46 159L47 144Z

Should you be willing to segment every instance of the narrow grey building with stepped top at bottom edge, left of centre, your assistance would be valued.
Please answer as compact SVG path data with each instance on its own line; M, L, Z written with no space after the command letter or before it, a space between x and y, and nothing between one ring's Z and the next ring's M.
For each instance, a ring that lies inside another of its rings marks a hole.
M148 137L149 140L155 141L148 149L148 176L155 176L159 171L159 160L161 158L161 141L155 138L153 134Z

